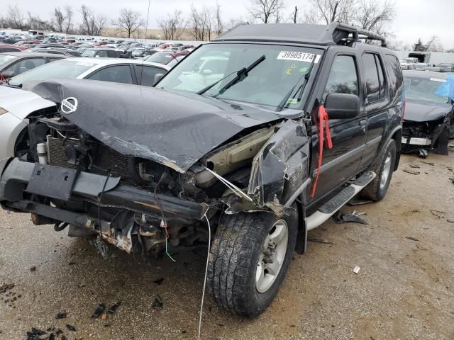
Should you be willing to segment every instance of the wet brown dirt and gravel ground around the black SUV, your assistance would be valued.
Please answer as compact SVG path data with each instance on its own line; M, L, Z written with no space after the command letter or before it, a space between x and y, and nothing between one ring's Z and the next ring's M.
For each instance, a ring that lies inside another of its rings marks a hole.
M260 317L233 317L208 296L202 339L454 339L450 150L404 156L382 202L343 208L366 212L368 225L330 220L310 232L328 243L309 242L306 254L294 254ZM0 233L0 339L26 339L32 327L60 328L66 339L196 339L203 252L145 268L121 251L104 261L87 242L5 211ZM115 314L91 318L100 303L118 301ZM56 319L58 312L67 317Z

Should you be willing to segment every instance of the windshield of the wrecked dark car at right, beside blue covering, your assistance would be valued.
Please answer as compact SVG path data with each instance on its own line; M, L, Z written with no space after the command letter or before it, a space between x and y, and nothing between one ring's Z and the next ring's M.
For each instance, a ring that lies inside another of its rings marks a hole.
M404 77L406 98L424 99L436 103L448 103L447 96L439 96L440 86L446 83L441 78Z

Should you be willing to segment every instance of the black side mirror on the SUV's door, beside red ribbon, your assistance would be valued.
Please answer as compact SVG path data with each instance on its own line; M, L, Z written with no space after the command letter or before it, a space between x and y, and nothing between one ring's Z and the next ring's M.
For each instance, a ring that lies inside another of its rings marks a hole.
M328 94L324 106L330 119L355 118L360 113L360 98L355 94Z

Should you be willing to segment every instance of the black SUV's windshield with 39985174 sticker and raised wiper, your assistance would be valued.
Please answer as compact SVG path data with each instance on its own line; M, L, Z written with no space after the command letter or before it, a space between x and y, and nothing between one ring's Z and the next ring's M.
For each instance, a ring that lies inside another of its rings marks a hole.
M204 92L204 96L277 107L294 89L295 94L288 96L285 107L299 108L301 103L296 99L302 97L296 93L301 91L299 84L304 82L304 75L313 62L311 74L316 73L322 53L323 50L295 46L203 45L179 62L157 87L196 93L226 77ZM262 56L265 60L248 72L247 77L219 94L219 90L236 77L236 72Z

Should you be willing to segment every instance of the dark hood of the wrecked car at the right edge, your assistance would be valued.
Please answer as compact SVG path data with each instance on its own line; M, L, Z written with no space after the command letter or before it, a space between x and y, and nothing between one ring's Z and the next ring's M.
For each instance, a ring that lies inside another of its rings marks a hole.
M443 118L453 109L448 103L434 103L432 101L419 101L409 98L406 101L404 120L413 122L428 122Z

